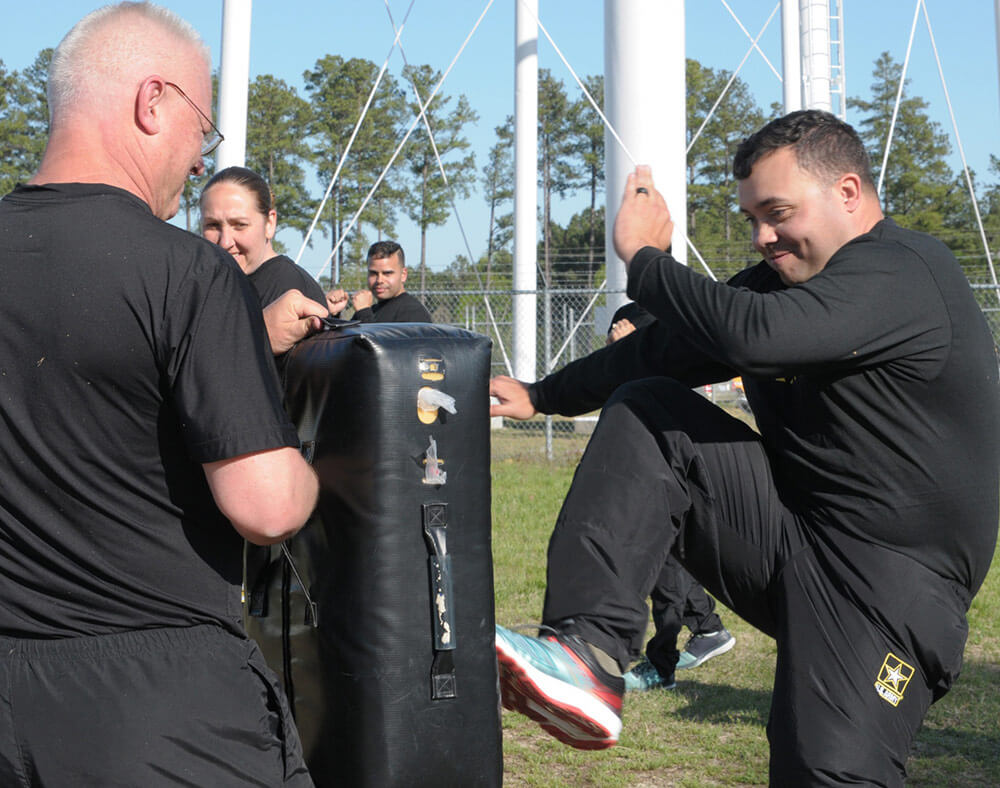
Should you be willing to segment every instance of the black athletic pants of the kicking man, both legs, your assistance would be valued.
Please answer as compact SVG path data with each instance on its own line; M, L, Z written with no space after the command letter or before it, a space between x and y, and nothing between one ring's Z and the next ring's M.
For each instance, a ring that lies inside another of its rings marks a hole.
M653 378L602 412L549 544L544 623L624 669L671 550L777 642L772 784L901 785L914 733L961 666L967 592L795 516L753 430Z

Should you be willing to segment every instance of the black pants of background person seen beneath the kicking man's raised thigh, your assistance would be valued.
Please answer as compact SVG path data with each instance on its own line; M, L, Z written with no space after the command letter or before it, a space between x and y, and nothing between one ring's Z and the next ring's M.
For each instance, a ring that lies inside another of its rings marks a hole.
M681 627L687 627L692 635L718 632L722 620L715 613L715 600L673 554L667 557L649 596L656 633L646 644L646 658L666 677L674 672L680 659L677 636Z

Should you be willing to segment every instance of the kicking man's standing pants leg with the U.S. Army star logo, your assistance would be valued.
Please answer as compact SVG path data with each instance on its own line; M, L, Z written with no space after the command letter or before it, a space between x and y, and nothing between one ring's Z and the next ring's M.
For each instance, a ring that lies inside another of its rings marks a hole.
M968 592L841 535L777 584L771 784L902 786L913 737L961 668Z

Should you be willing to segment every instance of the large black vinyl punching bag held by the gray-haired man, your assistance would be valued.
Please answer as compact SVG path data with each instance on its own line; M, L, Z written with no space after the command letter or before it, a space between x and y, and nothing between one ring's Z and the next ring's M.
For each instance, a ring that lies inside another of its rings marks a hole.
M285 363L320 501L291 564L248 554L247 620L318 786L502 781L489 360L479 334L386 323L317 334Z

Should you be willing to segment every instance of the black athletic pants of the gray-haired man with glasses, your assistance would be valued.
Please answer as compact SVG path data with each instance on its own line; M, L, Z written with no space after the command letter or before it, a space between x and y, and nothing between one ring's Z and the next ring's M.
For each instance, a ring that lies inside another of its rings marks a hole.
M210 625L0 637L0 785L312 784L252 640Z

